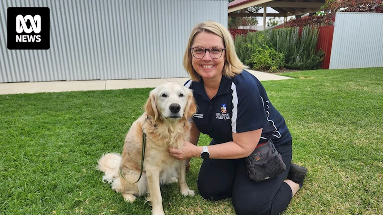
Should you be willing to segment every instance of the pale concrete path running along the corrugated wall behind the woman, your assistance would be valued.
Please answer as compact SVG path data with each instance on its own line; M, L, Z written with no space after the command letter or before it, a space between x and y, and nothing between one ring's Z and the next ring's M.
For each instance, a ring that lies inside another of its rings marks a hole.
M260 81L290 79L280 75L247 70ZM189 78L153 78L139 80L94 80L94 81L44 81L0 83L0 94L64 92L83 90L117 90L125 88L156 87L168 81L184 84Z

